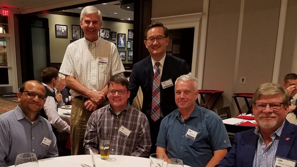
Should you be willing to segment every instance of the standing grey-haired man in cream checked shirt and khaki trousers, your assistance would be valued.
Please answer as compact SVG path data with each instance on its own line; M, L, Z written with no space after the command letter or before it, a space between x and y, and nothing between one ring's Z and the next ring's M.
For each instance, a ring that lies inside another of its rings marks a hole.
M75 96L70 122L72 155L85 154L83 138L91 113L108 104L105 97L110 76L125 71L116 46L98 37L102 16L96 7L81 11L80 26L85 36L68 45L60 68Z

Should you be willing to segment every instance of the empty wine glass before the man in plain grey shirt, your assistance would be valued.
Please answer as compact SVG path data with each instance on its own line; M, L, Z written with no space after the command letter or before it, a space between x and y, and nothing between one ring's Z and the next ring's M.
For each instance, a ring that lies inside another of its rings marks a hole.
M34 153L22 153L15 159L15 167L38 167L38 160Z

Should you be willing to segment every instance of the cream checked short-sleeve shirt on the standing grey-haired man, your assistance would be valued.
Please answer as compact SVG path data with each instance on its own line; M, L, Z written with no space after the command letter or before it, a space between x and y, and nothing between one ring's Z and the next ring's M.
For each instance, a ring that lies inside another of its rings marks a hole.
M107 58L107 63L99 58ZM124 71L116 45L102 38L95 42L82 38L68 45L59 72L74 77L88 89L101 91L110 76ZM70 93L80 95L73 90Z

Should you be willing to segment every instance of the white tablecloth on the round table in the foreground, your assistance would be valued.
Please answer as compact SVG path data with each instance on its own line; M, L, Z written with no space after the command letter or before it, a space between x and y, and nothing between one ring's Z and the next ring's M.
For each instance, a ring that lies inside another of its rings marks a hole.
M91 155L73 155L38 160L39 167L81 167L80 163L92 166ZM96 167L149 167L149 158L110 155L108 160L101 160L100 155L95 155ZM10 166L14 167L14 166ZM166 162L163 163L166 167ZM189 167L184 165L184 167Z

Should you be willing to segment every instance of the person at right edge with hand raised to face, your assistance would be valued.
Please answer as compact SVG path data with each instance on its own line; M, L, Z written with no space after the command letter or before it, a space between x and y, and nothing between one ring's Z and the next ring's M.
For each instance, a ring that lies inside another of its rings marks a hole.
M289 99L289 110L287 115L287 120L297 125L297 110L296 110L296 100L297 100L297 74L290 73L285 76L283 85L287 89L290 95Z

